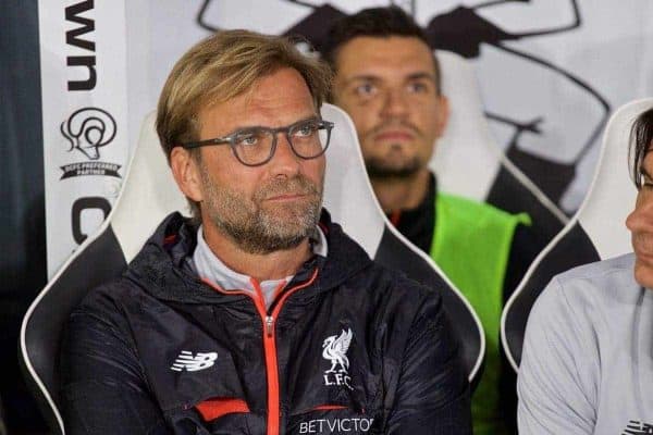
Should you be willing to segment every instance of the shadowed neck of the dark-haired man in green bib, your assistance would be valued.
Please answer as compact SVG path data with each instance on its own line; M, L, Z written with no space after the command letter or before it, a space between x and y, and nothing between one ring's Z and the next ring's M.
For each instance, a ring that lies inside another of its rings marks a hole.
M371 183L381 208L389 213L417 208L429 190L429 170L422 169L409 177L374 177Z

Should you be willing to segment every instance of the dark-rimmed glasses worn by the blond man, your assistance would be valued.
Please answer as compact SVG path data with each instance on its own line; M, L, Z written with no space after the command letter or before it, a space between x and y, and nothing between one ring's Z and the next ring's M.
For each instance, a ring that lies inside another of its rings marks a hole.
M301 120L285 127L246 127L229 136L181 144L186 149L211 145L230 145L232 152L246 166L260 166L272 160L276 151L276 135L285 134L293 152L305 160L316 159L326 151L333 123L318 117Z

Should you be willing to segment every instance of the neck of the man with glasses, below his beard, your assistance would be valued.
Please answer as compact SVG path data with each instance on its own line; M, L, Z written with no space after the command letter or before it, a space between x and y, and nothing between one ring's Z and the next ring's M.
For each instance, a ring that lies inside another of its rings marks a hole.
M250 253L242 250L211 223L202 225L207 245L227 268L256 281L282 279L294 275L311 256L308 238L295 248L270 253Z

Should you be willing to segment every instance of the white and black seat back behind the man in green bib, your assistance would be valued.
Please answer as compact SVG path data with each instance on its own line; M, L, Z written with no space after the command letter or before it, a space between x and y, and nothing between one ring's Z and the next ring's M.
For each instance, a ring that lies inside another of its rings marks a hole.
M515 166L490 132L473 65L463 57L436 50L442 92L451 115L429 166L438 188L485 201L512 213L527 212L543 248L568 222L567 216Z

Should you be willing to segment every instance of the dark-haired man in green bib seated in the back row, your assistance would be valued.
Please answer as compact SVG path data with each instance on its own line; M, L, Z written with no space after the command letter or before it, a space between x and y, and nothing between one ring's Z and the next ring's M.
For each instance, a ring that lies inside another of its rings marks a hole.
M464 293L483 324L488 348L472 397L475 434L516 433L515 377L502 357L500 320L538 253L529 216L438 190L428 162L449 107L438 59L404 11L375 8L342 18L323 54L335 72L332 101L356 125L381 207Z

